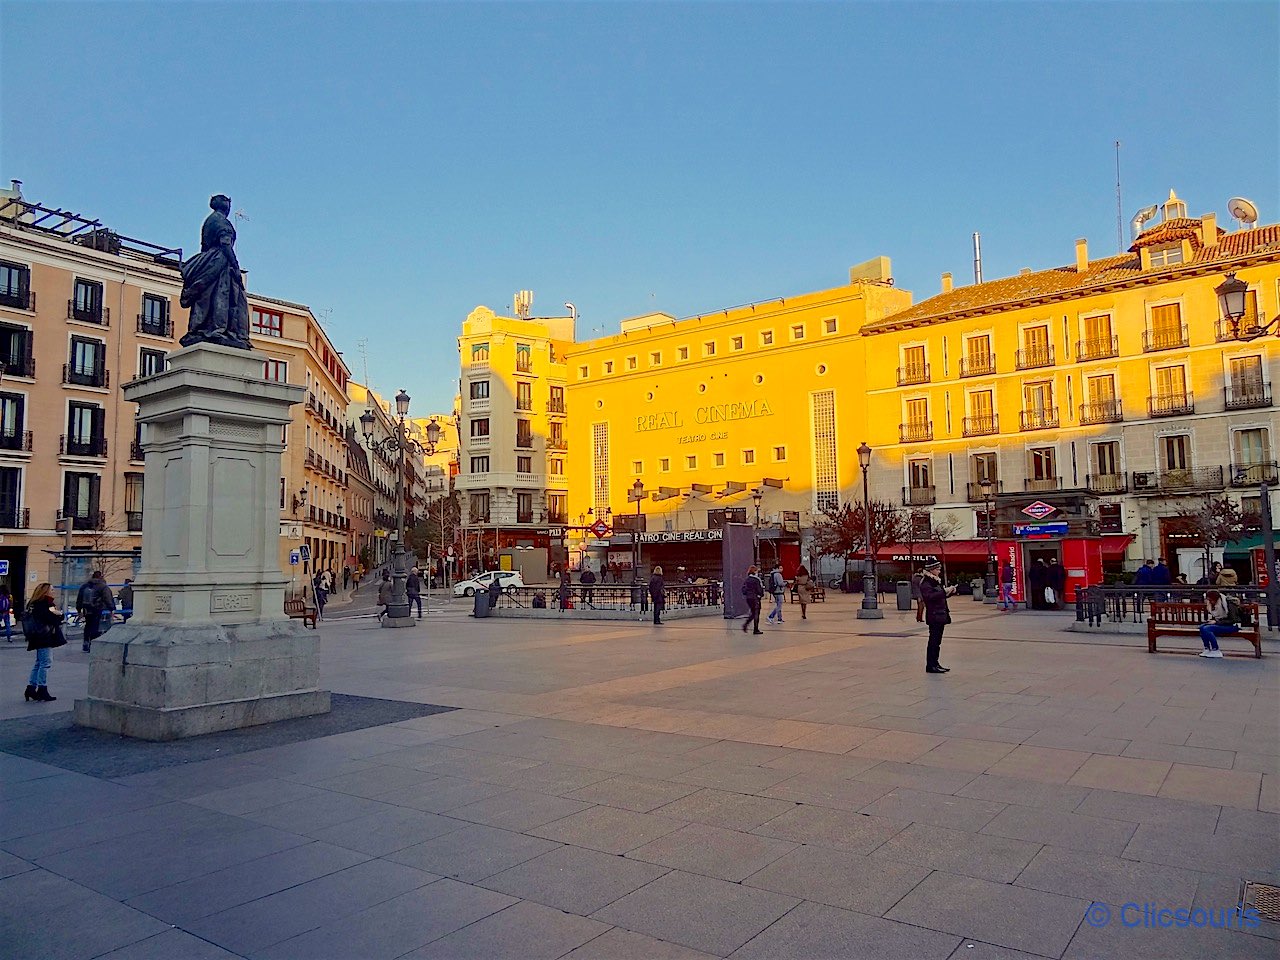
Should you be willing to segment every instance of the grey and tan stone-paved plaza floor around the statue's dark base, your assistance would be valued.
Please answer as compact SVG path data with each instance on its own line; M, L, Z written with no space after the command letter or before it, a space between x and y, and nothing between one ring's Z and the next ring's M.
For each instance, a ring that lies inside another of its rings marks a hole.
M764 636L476 621L462 600L393 631L332 608L335 694L457 709L169 765L177 746L131 744L154 763L116 777L0 753L0 950L1277 955L1280 924L1144 919L1234 919L1242 881L1280 883L1274 640L1262 660L1153 657L963 599L952 672L925 676L914 614L855 607L787 607ZM55 654L55 704L22 701L19 648L0 649L0 716L69 723L78 645Z

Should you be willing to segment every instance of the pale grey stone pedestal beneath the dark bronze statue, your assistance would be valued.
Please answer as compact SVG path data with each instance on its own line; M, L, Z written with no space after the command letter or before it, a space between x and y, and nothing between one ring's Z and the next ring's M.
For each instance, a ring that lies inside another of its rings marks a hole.
M77 723L174 740L328 712L319 635L284 616L278 566L280 431L303 393L207 343L124 385L143 424L142 568L133 618L93 641Z

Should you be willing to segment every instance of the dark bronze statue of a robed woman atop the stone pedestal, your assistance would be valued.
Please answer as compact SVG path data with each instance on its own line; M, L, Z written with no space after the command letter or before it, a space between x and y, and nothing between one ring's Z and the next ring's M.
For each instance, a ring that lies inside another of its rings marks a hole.
M236 259L236 228L228 219L232 198L210 197L212 207L200 230L200 252L182 265L182 298L191 320L182 346L218 343L253 349L248 342L248 300Z

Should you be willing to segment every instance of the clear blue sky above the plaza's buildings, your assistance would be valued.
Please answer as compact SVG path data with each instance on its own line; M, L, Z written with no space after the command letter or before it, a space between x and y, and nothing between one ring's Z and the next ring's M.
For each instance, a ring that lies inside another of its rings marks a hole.
M5 0L0 180L188 251L232 195L251 287L421 413L518 289L589 338L877 255L923 300L974 230L988 279L1112 253L1116 140L1125 224L1170 187L1274 223L1277 10Z

